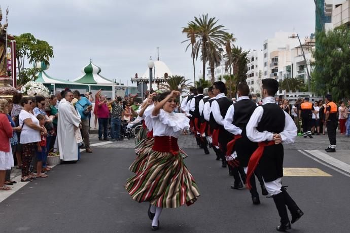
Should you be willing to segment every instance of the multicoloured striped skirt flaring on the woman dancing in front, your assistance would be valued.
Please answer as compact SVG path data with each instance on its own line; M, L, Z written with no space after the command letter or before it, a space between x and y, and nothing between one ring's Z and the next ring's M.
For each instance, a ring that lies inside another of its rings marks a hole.
M146 167L129 178L125 189L137 202L150 202L163 208L191 205L199 197L193 176L183 162L184 151L177 154L151 150Z

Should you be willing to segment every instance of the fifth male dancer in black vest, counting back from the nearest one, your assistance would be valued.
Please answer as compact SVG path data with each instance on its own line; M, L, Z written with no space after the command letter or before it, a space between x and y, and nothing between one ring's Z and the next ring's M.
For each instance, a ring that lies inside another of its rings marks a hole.
M204 152L206 154L209 153L208 148L206 147L206 144L203 140L201 140L200 136L200 114L199 114L199 101L203 99L203 88L202 87L197 87L197 95L191 99L190 102L190 114L192 115L192 120L193 120L193 129L194 129L194 136L196 138L197 144L201 148L204 149Z

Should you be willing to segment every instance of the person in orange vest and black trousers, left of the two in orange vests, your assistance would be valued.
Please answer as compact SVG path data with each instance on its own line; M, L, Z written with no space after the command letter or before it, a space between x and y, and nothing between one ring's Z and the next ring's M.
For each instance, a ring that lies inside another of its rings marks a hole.
M311 136L312 112L314 111L313 104L309 102L309 98L305 97L304 102L300 104L299 119L303 125L304 138Z

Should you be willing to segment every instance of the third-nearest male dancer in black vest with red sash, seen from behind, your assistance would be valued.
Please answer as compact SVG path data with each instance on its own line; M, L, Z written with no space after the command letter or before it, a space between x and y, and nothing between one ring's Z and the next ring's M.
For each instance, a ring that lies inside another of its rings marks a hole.
M227 166L226 162L226 144L232 139L232 134L224 128L224 118L227 109L232 105L232 100L226 97L227 89L223 82L218 81L213 85L213 93L216 95L212 102L212 112L210 115L210 123L213 125L213 146L220 146L222 167Z

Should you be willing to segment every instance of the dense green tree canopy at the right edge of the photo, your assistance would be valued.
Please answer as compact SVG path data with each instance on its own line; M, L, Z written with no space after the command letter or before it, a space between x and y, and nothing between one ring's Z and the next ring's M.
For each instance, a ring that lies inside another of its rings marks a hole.
M350 96L350 30L339 26L316 33L317 48L311 74L313 91L333 95L335 101Z

